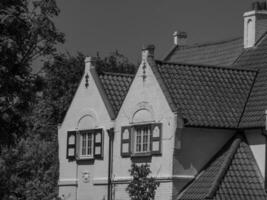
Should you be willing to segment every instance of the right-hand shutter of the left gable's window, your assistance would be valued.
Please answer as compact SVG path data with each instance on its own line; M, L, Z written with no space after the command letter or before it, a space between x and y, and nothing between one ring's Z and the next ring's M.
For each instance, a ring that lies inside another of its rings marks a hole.
M103 158L103 129L96 129L94 131L94 157L96 159Z

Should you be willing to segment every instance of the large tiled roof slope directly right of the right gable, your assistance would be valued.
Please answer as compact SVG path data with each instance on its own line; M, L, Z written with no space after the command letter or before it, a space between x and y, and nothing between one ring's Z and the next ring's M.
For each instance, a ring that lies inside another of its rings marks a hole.
M256 71L156 62L186 126L237 128Z

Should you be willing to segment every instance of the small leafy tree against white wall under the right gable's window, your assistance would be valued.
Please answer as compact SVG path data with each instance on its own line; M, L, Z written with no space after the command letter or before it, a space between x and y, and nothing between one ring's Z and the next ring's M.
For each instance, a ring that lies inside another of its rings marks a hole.
M129 193L131 200L153 200L159 182L155 178L148 177L151 173L148 164L140 166L132 164L129 170L133 180L127 186L126 191Z

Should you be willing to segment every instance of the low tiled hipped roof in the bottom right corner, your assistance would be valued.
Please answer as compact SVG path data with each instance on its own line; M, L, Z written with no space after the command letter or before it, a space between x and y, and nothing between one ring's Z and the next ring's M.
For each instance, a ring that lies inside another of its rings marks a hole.
M235 136L178 199L267 199L263 178L244 138Z

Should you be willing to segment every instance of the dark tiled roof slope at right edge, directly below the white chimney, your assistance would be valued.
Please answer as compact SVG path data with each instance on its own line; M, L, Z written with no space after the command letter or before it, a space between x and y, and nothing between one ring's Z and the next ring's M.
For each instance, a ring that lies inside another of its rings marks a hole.
M267 34L264 34L255 47L244 50L234 67L259 71L240 127L264 127L267 109Z

